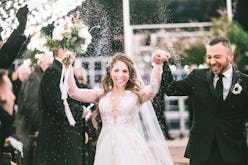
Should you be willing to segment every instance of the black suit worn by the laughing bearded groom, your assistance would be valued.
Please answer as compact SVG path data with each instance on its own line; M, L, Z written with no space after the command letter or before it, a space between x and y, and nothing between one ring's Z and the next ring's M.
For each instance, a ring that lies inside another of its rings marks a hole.
M248 159L248 76L233 71L232 87L237 82L242 86L240 94L230 90L221 102L214 95L213 74L210 69L193 70L189 76L174 81L168 63L164 64L161 88L168 96L190 96L193 108L193 123L185 156L205 161L213 141L225 161L239 162Z

